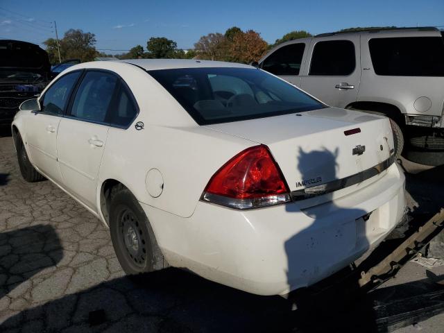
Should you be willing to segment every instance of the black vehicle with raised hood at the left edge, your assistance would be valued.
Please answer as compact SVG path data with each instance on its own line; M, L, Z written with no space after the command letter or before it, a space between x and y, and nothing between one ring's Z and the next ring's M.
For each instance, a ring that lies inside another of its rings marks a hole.
M49 83L48 53L38 45L0 40L0 126L10 126L19 105Z

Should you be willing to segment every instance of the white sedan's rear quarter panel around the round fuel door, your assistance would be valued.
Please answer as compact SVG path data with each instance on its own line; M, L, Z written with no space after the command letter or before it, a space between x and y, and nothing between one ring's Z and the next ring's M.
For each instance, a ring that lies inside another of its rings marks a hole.
M110 128L99 171L98 200L103 182L114 179L142 203L178 216L191 216L212 175L232 156L255 143L198 126L145 71L123 65L130 67L114 71L132 90L139 114L126 130ZM135 128L138 121L144 123L143 130ZM158 169L164 180L157 198L146 189L150 169Z

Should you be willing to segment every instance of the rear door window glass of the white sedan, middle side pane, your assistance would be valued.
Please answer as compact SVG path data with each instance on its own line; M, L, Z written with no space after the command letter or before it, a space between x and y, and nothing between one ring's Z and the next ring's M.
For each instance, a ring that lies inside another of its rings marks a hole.
M110 73L88 71L78 87L71 117L103 123L118 80Z

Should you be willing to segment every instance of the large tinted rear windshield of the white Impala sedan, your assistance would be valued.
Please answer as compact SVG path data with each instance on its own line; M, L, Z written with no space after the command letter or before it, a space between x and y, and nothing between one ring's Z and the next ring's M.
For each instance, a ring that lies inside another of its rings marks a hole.
M260 69L148 71L199 125L304 112L325 105Z

